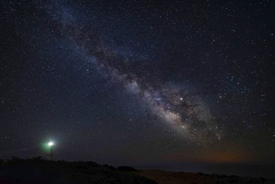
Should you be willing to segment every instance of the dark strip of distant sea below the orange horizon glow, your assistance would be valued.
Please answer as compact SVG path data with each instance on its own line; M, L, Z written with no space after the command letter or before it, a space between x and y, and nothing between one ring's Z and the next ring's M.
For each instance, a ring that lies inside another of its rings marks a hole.
M275 165L184 163L181 165L133 166L140 170L164 170L172 172L203 172L236 176L275 178Z

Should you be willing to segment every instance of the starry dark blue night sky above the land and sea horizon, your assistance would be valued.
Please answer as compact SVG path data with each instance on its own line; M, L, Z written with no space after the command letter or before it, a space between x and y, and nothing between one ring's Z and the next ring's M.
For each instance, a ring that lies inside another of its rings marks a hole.
M275 164L272 1L1 1L0 157Z

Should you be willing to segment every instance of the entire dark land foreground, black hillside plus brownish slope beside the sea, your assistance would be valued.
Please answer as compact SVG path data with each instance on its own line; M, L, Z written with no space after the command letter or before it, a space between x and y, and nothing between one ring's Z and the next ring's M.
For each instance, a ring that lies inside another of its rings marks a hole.
M0 160L0 183L275 183L274 179L218 174L135 170L94 162L13 158Z

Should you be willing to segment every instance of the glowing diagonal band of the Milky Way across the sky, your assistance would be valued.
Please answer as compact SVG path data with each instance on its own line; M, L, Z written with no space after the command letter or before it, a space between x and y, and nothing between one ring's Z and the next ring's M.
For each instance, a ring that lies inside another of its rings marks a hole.
M56 23L58 32L83 50L88 63L93 63L111 81L137 95L148 105L151 113L167 123L173 131L192 141L211 143L221 139L221 127L195 90L159 81L152 74L146 73L144 68L133 65L117 48L99 39L95 28L78 25L66 6L58 9L52 4L42 3L39 7L46 10Z

